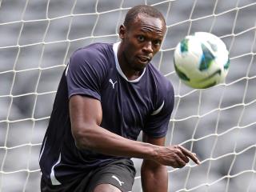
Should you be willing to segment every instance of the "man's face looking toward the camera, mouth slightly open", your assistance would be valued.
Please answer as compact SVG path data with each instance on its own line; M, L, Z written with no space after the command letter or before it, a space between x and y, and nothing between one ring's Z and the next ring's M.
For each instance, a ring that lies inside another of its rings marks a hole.
M122 32L123 62L132 70L141 71L160 49L166 26L160 18L138 14L134 23L123 27Z

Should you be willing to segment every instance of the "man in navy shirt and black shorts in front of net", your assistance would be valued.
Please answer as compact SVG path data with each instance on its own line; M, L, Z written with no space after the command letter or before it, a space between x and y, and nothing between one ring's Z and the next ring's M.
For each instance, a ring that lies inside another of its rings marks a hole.
M135 6L120 26L121 42L74 52L42 143L42 191L131 191L130 158L142 158L143 190L165 192L166 166L199 164L182 146L164 146L174 89L150 60L165 33L158 10Z

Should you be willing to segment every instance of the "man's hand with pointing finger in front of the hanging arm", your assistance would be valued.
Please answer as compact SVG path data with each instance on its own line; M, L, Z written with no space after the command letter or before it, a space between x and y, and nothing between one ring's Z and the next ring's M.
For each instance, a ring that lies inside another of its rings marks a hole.
M200 164L196 155L183 146L160 146L155 160L165 166L182 168L190 162L190 159L196 164Z

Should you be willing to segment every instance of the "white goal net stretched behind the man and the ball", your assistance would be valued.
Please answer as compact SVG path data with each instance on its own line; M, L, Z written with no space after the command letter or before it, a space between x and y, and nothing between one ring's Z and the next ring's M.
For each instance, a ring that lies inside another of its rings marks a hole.
M175 90L166 145L198 155L168 167L169 191L256 191L256 2L253 0L0 0L0 191L40 191L39 150L70 54L118 42L130 7L155 6L167 33L154 65ZM174 72L174 47L187 34L217 35L230 50L226 81L191 89ZM142 191L141 160L134 192Z

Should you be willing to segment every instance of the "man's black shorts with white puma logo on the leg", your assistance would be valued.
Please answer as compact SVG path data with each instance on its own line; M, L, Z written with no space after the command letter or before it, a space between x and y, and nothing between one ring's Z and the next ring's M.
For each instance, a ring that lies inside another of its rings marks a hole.
M110 162L98 167L80 179L59 186L52 186L41 178L42 192L92 192L99 184L111 184L122 192L130 192L134 184L136 170L130 159Z

